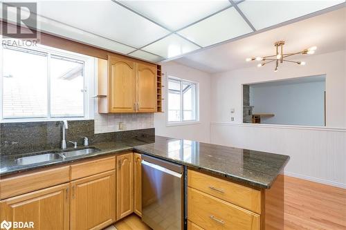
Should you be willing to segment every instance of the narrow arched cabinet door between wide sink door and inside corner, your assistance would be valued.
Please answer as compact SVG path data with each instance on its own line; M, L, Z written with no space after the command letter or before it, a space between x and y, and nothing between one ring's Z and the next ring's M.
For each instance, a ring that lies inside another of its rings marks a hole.
M134 210L133 153L118 155L116 161L116 217L120 220Z

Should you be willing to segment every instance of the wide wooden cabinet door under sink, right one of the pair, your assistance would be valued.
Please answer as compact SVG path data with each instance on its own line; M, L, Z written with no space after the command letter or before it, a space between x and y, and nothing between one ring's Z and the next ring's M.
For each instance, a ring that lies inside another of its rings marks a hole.
M116 171L71 182L71 230L102 229L116 220Z

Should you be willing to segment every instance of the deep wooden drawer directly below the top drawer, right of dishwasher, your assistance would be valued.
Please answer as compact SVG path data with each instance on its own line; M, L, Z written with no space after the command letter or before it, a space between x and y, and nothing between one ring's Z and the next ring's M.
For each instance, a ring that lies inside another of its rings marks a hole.
M188 188L188 220L206 230L259 230L260 215Z

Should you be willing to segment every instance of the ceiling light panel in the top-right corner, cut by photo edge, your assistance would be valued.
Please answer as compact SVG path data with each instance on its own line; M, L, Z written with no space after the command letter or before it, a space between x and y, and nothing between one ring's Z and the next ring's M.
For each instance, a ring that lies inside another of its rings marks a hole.
M260 30L344 2L344 0L243 1L238 7L253 26Z

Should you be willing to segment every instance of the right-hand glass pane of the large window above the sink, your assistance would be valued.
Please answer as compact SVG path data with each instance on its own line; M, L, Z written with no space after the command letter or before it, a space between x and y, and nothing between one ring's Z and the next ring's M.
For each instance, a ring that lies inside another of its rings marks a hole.
M51 56L51 116L84 116L84 62Z

